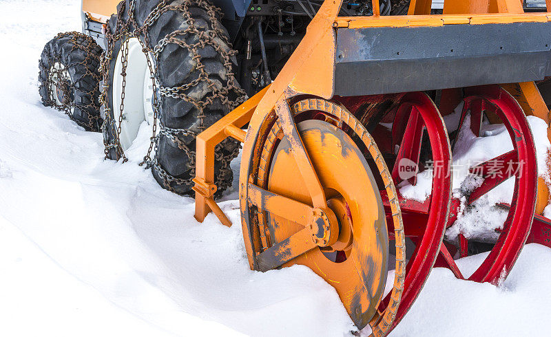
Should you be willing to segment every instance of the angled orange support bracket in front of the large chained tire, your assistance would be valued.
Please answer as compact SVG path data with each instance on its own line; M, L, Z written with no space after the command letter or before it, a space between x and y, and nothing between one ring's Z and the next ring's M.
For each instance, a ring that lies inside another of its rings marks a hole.
M269 89L269 85L258 94L233 109L211 127L202 131L196 138L195 178L195 219L202 222L207 214L213 212L225 226L231 227L231 221L224 214L220 206L214 201L216 185L214 184L214 148L222 140L231 137L239 142L245 142L245 126L253 116L256 106Z

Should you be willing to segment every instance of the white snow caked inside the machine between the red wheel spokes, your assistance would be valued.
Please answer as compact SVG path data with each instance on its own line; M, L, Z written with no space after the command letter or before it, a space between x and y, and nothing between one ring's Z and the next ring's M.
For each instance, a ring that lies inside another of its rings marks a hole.
M455 131L463 102L457 106L454 113L444 117L448 131ZM547 156L551 149L551 143L547 137L547 125L541 118L528 116L528 123L534 135L536 144L538 175L546 182L551 182L548 173ZM473 205L465 207L465 195L477 188L482 179L469 173L468 168L491 160L503 153L512 151L513 146L510 135L503 124L484 124L481 129L481 137L476 137L470 130L470 119L465 118L461 127L457 143L453 150L453 196L462 201L461 212L455 224L448 228L446 237L450 240L457 238L459 233L467 239L476 237L483 241L495 241L499 235L495 230L503 228L508 211L495 206L498 203L510 204L514 191L514 178L509 178L490 193L483 195ZM407 181L399 185L399 191L409 199L424 202L432 189L433 170L427 169L417 175L415 186ZM551 215L551 208L546 208L545 214Z

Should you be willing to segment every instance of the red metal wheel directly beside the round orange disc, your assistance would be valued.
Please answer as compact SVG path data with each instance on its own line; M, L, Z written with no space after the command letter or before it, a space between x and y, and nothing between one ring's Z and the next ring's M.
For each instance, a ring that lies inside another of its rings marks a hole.
M427 173L427 164L433 164L433 174L428 175L431 180L430 195L424 202L399 195L404 231L406 237L415 243L415 251L406 267L402 303L394 321L394 325L397 325L417 298L435 263L448 219L452 186L449 174L450 143L446 125L433 100L421 92L409 93L402 98L397 109L390 113L394 111L391 137L392 149L397 151L389 155L395 154L392 169L395 184L417 184L419 174ZM430 143L428 149L423 146L424 135ZM419 172L421 168L425 168L425 171ZM392 222L388 221L388 224ZM393 231L389 228L388 232ZM388 298L382 302L380 309L384 309L386 303Z

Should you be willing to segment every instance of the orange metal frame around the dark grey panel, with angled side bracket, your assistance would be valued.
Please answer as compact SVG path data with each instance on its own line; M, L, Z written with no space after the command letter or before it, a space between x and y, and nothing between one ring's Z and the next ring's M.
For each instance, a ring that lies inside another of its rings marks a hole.
M214 147L226 137L245 142L243 157L249 157L249 138L256 135L262 120L273 109L278 109L287 97L287 90L302 94L313 94L330 99L333 97L333 69L335 60L335 36L337 29L369 27L439 26L439 25L481 25L487 23L546 22L551 21L551 13L524 14L520 0L447 0L444 1L444 14L430 15L430 0L411 0L408 15L395 17L380 16L379 1L373 0L373 17L338 17L342 1L326 0L318 14L311 21L306 36L289 58L271 86L247 100L225 118L198 135L196 160L196 213L198 221L213 211L227 226L231 222L214 202ZM548 11L551 0L547 0ZM549 111L541 94L533 82L514 83L505 86L519 100L527 115L534 115L550 122ZM249 129L240 130L249 122ZM551 134L551 133L550 133ZM241 163L240 195L247 187L248 177L244 176ZM548 187L539 186L541 195L538 211L547 204ZM241 201L247 202L247 201ZM243 206L243 205L242 205ZM247 242L247 240L245 240ZM247 249L249 251L249 248Z

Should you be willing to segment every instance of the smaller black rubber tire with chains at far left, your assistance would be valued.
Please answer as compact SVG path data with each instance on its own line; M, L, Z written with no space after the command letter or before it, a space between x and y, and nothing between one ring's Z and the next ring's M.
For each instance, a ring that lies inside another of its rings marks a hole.
M39 61L39 94L45 107L64 111L87 131L99 131L103 120L99 104L99 65L103 50L90 36L79 32L58 34L46 43ZM58 105L50 87L52 67L61 63L70 77L63 83L65 100ZM72 109L72 111L71 111Z

